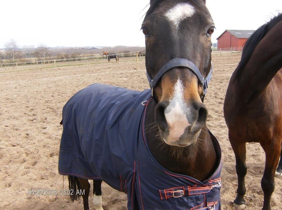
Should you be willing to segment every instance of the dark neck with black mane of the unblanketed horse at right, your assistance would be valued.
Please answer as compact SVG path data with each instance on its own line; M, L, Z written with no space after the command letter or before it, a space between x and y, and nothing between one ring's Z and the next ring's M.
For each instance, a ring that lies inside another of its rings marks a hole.
M263 93L282 68L281 30L282 14L279 14L246 42L241 61L230 80L245 102Z

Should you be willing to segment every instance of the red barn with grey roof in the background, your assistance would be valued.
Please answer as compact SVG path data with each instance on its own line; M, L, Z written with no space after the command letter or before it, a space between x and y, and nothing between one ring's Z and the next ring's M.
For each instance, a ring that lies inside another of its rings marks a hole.
M225 30L217 38L217 49L241 48L247 39L254 33L254 30Z

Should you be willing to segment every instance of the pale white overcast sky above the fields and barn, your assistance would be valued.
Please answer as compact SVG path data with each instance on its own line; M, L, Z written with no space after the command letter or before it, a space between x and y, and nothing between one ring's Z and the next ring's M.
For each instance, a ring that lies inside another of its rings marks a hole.
M1 1L0 48L11 38L20 47L145 46L140 31L149 0ZM216 24L212 41L225 29L256 30L282 11L281 0L207 0ZM143 11L142 11L143 10Z

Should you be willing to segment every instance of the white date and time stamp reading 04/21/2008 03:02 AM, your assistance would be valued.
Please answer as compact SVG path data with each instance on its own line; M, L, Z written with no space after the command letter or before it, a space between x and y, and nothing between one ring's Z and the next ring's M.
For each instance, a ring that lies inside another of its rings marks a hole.
M48 196L48 195L85 195L85 190L73 189L28 189L28 195Z

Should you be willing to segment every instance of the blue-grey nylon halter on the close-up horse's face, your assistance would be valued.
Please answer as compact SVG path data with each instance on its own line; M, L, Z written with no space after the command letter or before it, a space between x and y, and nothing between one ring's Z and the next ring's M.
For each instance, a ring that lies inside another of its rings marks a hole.
M162 75L164 75L164 73L166 73L167 71L175 67L188 68L190 71L192 71L197 76L198 81L202 87L202 102L204 102L204 97L207 93L208 83L212 79L212 65L211 65L211 69L209 70L208 75L205 78L194 63L192 63L191 61L187 59L183 59L183 58L173 59L167 62L166 64L164 64L164 66L160 69L160 71L157 73L157 75L153 79L150 77L150 75L147 72L147 78L150 84L152 98L154 99L154 101L157 103L157 99L155 98L154 91L153 91L153 89L157 85L157 82L162 78Z

